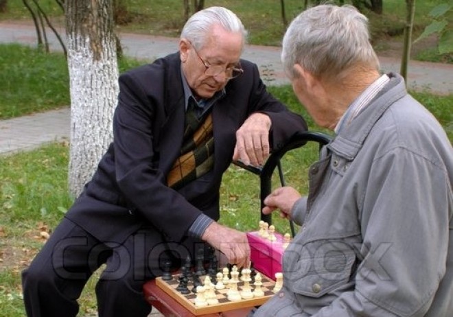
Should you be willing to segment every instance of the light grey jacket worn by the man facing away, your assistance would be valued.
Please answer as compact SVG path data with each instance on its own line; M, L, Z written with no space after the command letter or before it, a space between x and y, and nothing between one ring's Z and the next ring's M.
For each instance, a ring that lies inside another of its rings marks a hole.
M452 145L399 75L310 167L261 316L453 316Z

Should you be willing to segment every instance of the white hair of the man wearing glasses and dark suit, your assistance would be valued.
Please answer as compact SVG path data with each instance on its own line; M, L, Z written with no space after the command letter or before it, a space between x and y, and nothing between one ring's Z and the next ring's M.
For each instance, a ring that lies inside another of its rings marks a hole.
M195 49L201 49L207 40L212 25L221 25L229 32L242 33L242 45L245 44L247 31L236 14L223 7L210 7L192 15L185 23L181 38L187 38Z

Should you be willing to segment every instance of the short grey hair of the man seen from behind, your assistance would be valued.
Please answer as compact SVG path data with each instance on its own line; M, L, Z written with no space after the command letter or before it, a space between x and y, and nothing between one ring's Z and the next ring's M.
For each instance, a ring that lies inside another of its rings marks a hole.
M369 40L368 19L356 8L318 5L299 14L283 36L283 69L291 79L297 77L294 64L318 77L339 78L357 64L378 70Z

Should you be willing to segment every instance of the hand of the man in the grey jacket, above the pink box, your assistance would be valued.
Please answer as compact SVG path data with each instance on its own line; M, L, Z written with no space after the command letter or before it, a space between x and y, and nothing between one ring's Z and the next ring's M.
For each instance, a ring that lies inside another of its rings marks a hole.
M301 194L292 187L277 188L264 198L265 207L263 208L263 213L268 215L272 211L279 209L281 218L290 218L294 202L299 198L301 198Z

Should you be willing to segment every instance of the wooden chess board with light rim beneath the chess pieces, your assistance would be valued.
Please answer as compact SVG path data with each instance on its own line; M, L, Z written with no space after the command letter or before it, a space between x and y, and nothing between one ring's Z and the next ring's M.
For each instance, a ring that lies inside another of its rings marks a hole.
M172 298L174 298L176 301L178 301L178 303L183 305L187 310L189 310L189 312L198 316L203 314L214 314L218 312L227 312L229 310L234 309L263 305L264 303L266 303L266 301L268 301L270 297L272 297L272 295L275 294L272 292L272 289L275 286L275 281L272 281L272 279L269 279L264 274L261 275L263 283L262 290L264 292L264 296L253 297L249 299L241 299L240 301L229 301L229 299L227 298L228 290L227 288L224 288L223 290L216 290L218 303L215 305L208 305L206 307L197 307L195 305L196 298L195 293L190 292L190 294L184 295L176 290L176 287L178 287L179 274L174 274L172 276L173 279L171 281L164 281L162 277L157 277L156 285L159 288L161 288L161 290L163 290L165 293L172 296ZM200 278L202 280L204 277ZM237 283L238 290L241 290L242 285L244 285L244 282L242 281L240 281L240 283ZM191 286L189 283L188 287L189 290L191 291L193 286Z

